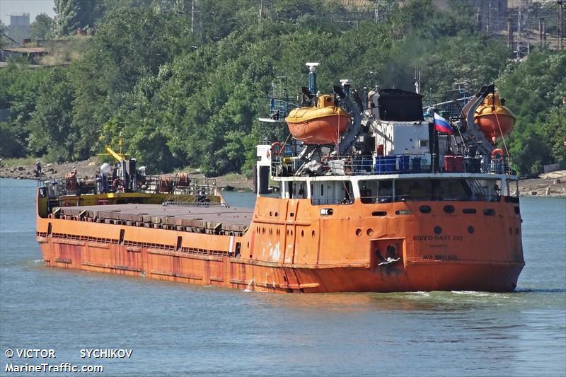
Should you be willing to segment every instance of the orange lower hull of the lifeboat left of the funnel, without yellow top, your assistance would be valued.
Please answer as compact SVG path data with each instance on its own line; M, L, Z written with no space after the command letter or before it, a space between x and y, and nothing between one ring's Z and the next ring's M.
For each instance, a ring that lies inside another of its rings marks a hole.
M328 115L298 123L287 121L289 132L304 144L336 144L348 124L350 117L347 115Z

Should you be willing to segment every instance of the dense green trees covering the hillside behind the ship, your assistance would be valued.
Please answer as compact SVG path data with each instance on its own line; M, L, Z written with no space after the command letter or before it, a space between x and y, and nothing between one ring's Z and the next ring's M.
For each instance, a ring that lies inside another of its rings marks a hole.
M79 0L56 4L65 2L78 4L76 14L58 15L51 33L84 26L79 16L89 11L96 35L70 66L0 69L0 109L11 108L11 120L0 123L0 156L86 159L121 135L127 152L154 172L246 170L255 144L280 133L257 120L267 115L272 81L287 76L294 95L306 84L305 62L320 62L323 92L344 78L356 88L411 90L415 66L423 92L436 98L457 81L473 90L495 81L518 117L507 140L516 168L531 173L566 157L566 52L540 50L513 62L458 1L450 11L408 1L383 22L349 24L327 16L346 11L340 2L274 1L260 20L256 1L203 0L193 32L190 1L105 0L94 10Z

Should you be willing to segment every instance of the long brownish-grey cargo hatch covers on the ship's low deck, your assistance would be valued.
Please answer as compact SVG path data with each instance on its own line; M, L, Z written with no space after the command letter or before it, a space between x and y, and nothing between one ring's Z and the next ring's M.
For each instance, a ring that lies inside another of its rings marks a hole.
M106 204L59 207L59 219L124 224L148 228L168 228L204 233L244 233L253 209L221 206L163 206L161 204Z

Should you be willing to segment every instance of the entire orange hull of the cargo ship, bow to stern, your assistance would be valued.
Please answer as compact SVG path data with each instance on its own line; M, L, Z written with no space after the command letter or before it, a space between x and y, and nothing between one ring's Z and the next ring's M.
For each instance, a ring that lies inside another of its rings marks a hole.
M446 202L426 202L431 214L420 214L422 204L328 205L329 219L308 199L258 197L243 236L37 216L37 240L50 267L254 291L514 289L524 266L518 204L451 202L446 214ZM398 260L379 265L390 249Z

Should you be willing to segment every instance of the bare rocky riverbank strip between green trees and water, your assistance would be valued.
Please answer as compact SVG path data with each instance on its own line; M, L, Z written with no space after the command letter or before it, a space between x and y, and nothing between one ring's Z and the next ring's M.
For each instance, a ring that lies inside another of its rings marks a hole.
M17 162L0 162L0 178L37 179L33 174L35 161ZM93 177L99 166L100 162L97 158L62 164L42 163L41 179L63 178L73 168L76 168L79 178ZM190 173L190 175L194 178L204 178L204 175L198 172ZM224 187L228 190L249 191L252 188L252 181L243 174L230 173L215 177L214 179L218 187ZM566 197L566 170L546 173L539 178L521 179L519 180L519 192L521 197Z

